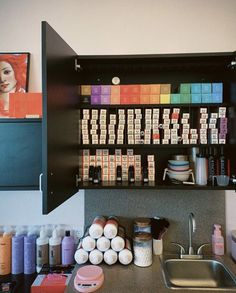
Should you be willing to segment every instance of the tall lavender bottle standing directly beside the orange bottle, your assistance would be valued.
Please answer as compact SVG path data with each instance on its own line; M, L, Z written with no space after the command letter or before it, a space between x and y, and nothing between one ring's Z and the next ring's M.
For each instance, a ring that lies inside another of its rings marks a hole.
M12 237L11 253L11 273L22 274L24 272L24 234L21 227L17 228L16 234Z

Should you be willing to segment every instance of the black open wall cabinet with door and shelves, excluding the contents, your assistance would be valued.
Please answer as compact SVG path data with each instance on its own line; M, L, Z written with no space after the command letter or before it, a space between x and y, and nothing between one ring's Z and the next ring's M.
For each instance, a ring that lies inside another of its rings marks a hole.
M188 155L192 147L207 149L220 147L230 159L230 173L235 174L236 145L236 55L234 53L201 53L169 55L128 56L79 56L46 23L42 23L43 62L43 212L48 213L79 189L97 188L156 188L156 189L222 189L221 187L173 185L163 182L163 171L172 155ZM120 84L171 84L178 92L181 83L223 83L222 103L204 104L115 104L91 105L89 97L84 100L81 85L112 85L119 77ZM225 107L228 118L226 143L219 144L91 144L82 141L81 117L83 110L106 109L109 114L125 113L129 109L179 108L190 113L190 125L198 127L200 108L215 113ZM106 149L114 155L116 149L126 154L132 149L135 155L155 158L155 180L148 184L123 181L104 181L99 184L83 180L81 164L84 150L95 155ZM232 185L223 189L234 189Z

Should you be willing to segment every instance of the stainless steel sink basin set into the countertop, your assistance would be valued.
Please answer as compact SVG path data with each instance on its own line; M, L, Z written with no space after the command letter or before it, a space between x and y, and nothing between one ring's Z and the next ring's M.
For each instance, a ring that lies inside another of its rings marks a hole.
M226 266L212 259L167 259L163 261L166 286L172 289L236 289L236 280Z

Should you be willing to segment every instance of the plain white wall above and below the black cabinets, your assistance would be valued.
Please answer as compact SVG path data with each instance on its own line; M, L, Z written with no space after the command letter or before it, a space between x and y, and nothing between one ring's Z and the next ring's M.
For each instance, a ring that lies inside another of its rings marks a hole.
M42 20L78 54L155 54L234 51L235 15L235 0L2 0L0 50L29 51L29 90L41 91ZM1 192L0 223L32 219L61 223L63 218L83 225L83 211L77 214L74 209L80 209L83 200L81 192L52 216L42 216L39 194ZM7 210L9 205L12 213ZM227 209L227 221L236 227L232 212Z

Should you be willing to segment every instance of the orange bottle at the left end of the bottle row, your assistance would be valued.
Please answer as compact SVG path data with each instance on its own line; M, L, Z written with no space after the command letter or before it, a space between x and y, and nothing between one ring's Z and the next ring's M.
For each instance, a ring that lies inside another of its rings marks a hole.
M11 237L8 229L0 236L0 275L11 273Z

